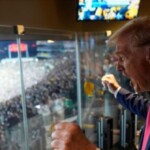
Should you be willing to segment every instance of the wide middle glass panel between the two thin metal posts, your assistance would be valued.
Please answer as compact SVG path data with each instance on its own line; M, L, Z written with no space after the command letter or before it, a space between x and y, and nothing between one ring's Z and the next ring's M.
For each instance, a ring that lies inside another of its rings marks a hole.
M21 55L28 141L50 149L54 124L77 119L75 36L71 32L25 29Z

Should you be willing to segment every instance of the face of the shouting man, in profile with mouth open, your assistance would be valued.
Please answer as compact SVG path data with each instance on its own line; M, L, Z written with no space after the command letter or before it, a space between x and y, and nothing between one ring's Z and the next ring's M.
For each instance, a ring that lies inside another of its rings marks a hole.
M131 84L135 91L149 91L150 81L149 64L145 59L145 47L132 46L129 48L130 41L128 39L120 39L116 45L116 67L123 75L131 80Z

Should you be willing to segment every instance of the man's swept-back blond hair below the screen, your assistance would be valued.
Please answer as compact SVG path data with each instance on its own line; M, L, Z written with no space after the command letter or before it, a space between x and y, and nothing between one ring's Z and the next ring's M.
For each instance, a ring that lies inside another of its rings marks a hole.
M139 17L129 21L109 38L108 45L116 45L121 38L128 38L129 46L150 44L150 17Z

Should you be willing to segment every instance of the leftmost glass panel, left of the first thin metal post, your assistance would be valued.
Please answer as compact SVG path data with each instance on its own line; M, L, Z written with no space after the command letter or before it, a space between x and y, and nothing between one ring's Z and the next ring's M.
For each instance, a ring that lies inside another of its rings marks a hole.
M20 149L24 139L20 66L16 35L9 26L0 26L0 88L0 149Z

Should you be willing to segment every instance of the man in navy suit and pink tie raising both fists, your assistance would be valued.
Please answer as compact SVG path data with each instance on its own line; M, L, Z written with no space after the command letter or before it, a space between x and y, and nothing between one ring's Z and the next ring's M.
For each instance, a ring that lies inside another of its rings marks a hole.
M112 35L108 44L116 46L117 69L130 78L135 91L150 91L150 17L128 22ZM105 75L102 82L123 106L146 119L139 150L149 150L150 101L122 89L113 75ZM77 125L63 123L55 129L52 134L55 150L96 150Z

